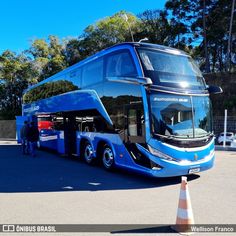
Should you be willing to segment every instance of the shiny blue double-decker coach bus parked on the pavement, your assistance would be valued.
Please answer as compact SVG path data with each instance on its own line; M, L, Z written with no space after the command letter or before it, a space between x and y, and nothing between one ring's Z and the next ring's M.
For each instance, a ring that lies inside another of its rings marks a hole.
M40 146L154 177L188 175L214 164L207 86L189 55L122 43L27 89L22 116L49 117Z

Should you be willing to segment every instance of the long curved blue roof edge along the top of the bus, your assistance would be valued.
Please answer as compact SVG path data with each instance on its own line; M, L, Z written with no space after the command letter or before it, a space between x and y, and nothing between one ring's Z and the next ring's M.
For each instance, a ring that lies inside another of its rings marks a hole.
M69 73L70 71L73 71L74 69L82 66L83 64L86 64L87 62L89 61L92 61L96 58L99 58L107 53L110 53L112 51L115 51L117 49L122 49L122 48L128 48L128 47L133 47L133 48L146 48L146 49L155 49L155 50L160 50L160 51L163 51L163 52L167 52L167 53L170 53L170 54L175 54L175 55L182 55L182 56L188 56L187 53L185 53L184 51L182 50L179 50L179 49L175 49L175 48L171 48L171 47L168 47L168 46L164 46L164 45L159 45L159 44L152 44L152 43L143 43L143 42L124 42L124 43L119 43L119 44L116 44L116 45L113 45L111 47L108 47L106 49L103 49L97 53L95 53L94 55L91 55L87 58L85 58L84 60L81 60L77 63L75 63L74 65L70 66L70 67L67 67L65 68L64 70L40 81L39 83L35 84L35 85L32 85L30 86L29 88L27 88L25 92L35 88L35 87L38 87L39 85L41 84L44 84L45 82L49 82L49 81L52 81L53 79L55 79L56 77L58 76L61 76L65 73Z

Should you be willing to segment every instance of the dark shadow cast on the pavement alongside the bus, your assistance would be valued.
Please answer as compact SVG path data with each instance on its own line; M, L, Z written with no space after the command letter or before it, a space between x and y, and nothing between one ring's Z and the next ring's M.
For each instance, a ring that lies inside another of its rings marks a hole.
M191 175L188 180L199 177ZM22 155L19 145L0 145L0 193L158 188L180 182L180 177L150 178L120 169L107 172L45 151L31 157Z

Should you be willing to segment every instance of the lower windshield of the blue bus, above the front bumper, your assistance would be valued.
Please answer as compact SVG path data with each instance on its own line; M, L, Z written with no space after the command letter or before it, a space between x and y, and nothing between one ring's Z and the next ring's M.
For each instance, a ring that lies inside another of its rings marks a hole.
M212 133L208 96L180 96L154 92L150 95L154 134L180 139L201 138Z

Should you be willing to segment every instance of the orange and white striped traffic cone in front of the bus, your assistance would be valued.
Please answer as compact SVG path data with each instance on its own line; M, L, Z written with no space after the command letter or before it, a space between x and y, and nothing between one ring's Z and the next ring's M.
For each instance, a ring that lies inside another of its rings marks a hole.
M181 234L191 234L190 227L193 224L193 210L188 192L187 177L182 176L176 225L172 228Z

